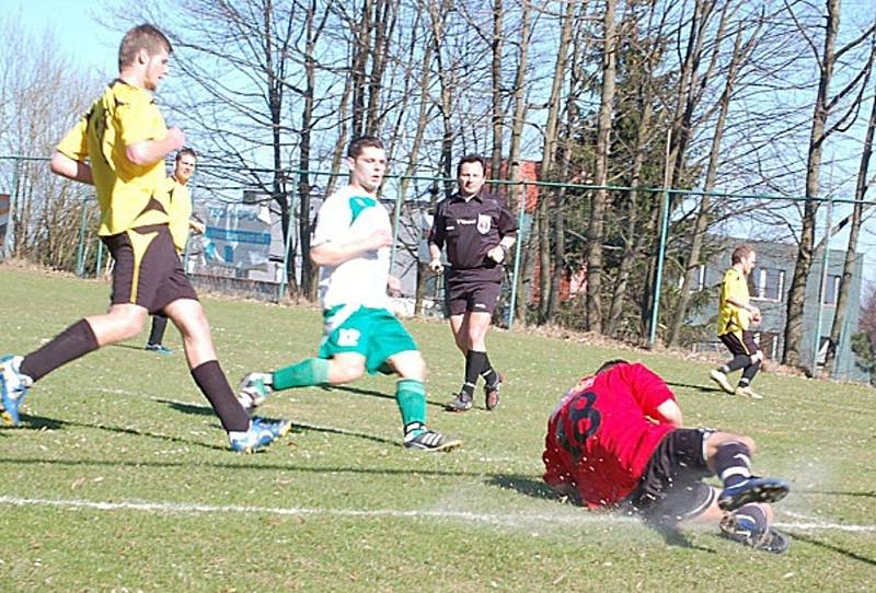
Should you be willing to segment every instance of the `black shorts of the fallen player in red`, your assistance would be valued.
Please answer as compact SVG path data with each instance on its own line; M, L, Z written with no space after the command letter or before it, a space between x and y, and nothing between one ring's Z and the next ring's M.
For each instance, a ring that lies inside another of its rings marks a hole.
M680 428L664 437L636 488L621 508L649 523L673 524L706 511L715 498L704 443L713 431Z

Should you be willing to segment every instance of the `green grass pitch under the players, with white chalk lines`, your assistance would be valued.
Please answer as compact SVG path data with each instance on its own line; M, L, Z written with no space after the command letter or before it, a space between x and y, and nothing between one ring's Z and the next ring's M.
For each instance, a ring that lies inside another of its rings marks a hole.
M105 307L94 281L0 268L0 350L24 353ZM204 300L232 383L312 354L315 311ZM293 432L227 450L182 353L105 348L39 382L0 428L2 591L873 591L876 391L764 374L751 402L708 365L521 333L491 334L508 376L495 412L442 411L461 357L449 329L410 322L430 368L430 425L461 450L400 446L392 382L284 392L263 408ZM169 332L168 344L180 339ZM679 396L690 426L750 434L756 469L785 477L786 556L713 531L669 544L631 520L563 504L541 484L546 417L619 354ZM480 389L479 389L480 393ZM482 402L479 400L482 406Z

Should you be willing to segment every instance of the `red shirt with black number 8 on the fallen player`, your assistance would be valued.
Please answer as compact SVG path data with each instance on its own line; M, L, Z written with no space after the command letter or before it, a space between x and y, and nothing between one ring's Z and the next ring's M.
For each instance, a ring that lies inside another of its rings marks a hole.
M591 508L620 502L676 428L650 419L661 417L657 407L667 399L675 400L675 394L641 363L581 379L548 422L544 481L574 487Z

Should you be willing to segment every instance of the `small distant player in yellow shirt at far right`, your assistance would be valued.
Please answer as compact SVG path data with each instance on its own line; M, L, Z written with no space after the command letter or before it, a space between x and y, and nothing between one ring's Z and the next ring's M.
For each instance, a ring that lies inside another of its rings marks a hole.
M751 381L763 362L763 352L749 330L752 323L760 323L760 310L752 305L748 293L748 276L758 263L758 255L748 245L733 251L731 266L724 274L718 302L718 339L733 354L726 364L710 373L712 381L727 393L761 399L751 388ZM734 388L727 374L742 369L739 384Z

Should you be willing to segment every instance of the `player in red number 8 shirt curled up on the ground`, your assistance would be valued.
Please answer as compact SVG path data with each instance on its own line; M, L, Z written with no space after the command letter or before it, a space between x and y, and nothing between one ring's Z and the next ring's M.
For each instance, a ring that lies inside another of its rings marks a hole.
M675 394L641 363L613 360L585 376L548 422L544 481L591 509L634 513L655 526L719 522L736 542L781 554L769 502L783 480L751 475L754 442L729 432L681 428ZM718 490L702 479L717 475Z

